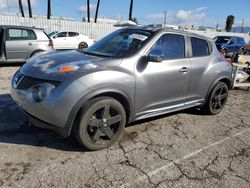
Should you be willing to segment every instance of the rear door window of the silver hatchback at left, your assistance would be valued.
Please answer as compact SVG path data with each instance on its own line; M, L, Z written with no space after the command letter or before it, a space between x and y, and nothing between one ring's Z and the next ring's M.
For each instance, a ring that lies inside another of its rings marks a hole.
M36 34L29 29L8 29L7 40L36 40Z

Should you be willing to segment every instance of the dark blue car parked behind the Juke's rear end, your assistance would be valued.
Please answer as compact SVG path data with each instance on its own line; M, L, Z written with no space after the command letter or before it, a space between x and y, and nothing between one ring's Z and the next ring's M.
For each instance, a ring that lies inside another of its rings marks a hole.
M244 38L238 36L217 36L213 40L218 50L224 55L241 53L246 45Z

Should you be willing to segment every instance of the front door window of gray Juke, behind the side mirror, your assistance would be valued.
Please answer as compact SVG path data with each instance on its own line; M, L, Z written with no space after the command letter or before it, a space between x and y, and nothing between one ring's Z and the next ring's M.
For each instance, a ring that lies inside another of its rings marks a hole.
M184 36L165 34L158 39L153 49L161 50L165 60L185 58Z

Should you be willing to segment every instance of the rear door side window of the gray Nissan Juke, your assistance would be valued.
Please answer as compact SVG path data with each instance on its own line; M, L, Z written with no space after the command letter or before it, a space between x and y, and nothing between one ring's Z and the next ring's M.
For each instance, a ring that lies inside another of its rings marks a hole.
M209 55L209 48L206 40L191 37L193 57Z

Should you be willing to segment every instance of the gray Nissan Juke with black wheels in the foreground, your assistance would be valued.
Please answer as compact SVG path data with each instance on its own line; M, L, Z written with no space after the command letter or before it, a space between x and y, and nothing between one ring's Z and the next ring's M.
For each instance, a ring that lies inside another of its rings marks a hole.
M212 40L128 27L84 51L31 58L13 76L11 96L34 126L99 150L135 120L195 106L217 114L231 87L232 67Z

